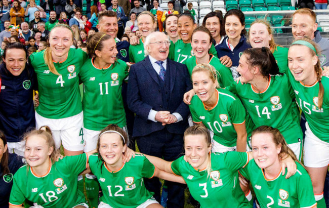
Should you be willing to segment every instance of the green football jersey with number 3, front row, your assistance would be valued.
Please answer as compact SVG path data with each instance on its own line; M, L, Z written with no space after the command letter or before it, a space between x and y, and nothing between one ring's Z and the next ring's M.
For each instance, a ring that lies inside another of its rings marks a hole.
M247 163L246 152L211 153L210 176L206 170L195 170L184 156L173 161L171 169L183 177L201 207L251 207L240 188L237 172Z

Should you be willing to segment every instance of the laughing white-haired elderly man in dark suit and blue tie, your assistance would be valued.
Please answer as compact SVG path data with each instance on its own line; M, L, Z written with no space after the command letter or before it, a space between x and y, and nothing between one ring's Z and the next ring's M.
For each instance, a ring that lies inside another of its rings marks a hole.
M133 137L140 152L173 161L183 152L190 113L183 95L192 86L186 65L168 59L169 45L164 33L147 36L144 52L148 56L130 69L128 106L136 113ZM159 180L145 180L145 184L159 201ZM167 206L184 206L184 185L168 182Z

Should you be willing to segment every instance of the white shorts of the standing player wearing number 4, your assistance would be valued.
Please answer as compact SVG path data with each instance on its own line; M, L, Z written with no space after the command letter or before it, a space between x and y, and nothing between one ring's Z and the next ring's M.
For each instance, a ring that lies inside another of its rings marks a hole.
M62 143L63 147L69 151L81 151L84 149L83 112L59 119L45 118L35 112L35 124L36 129L48 126L52 130L56 148L59 148Z

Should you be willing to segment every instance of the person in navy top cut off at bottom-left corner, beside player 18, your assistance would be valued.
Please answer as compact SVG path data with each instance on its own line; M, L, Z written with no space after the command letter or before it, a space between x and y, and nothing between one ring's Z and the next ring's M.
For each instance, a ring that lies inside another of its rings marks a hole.
M8 208L13 176L23 165L22 157L8 152L5 134L0 131L0 207Z

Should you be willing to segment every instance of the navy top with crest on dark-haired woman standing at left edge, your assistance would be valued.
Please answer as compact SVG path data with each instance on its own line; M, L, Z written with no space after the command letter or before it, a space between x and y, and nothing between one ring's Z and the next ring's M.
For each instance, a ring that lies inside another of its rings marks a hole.
M26 66L14 76L4 63L0 65L0 130L7 142L20 142L21 136L35 127L33 90L37 89L37 81L33 68Z

